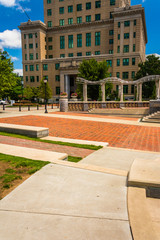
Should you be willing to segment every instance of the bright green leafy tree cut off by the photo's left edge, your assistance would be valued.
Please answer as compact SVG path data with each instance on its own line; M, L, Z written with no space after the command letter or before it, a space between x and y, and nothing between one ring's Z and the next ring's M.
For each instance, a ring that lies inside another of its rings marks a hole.
M11 95L17 84L17 74L13 73L14 67L6 51L0 50L0 98Z

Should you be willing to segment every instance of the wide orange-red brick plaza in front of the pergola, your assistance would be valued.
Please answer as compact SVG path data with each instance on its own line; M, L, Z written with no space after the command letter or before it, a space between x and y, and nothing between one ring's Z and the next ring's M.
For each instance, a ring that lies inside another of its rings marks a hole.
M0 122L49 128L55 137L108 142L111 147L160 152L160 128L41 116L1 118Z

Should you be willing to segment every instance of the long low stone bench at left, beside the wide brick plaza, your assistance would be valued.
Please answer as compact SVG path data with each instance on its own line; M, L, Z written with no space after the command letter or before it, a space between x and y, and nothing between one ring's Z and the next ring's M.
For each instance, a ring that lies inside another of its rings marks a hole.
M48 128L7 123L0 123L0 132L14 133L36 138L42 138L49 135Z

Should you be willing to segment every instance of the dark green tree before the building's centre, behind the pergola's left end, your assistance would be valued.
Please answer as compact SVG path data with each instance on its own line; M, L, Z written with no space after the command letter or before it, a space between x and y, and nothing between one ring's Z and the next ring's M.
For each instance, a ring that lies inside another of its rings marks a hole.
M109 66L107 65L106 61L97 62L95 59L83 60L78 68L78 77L87 79L89 81L99 81L109 77L108 69ZM89 85L87 88L88 97L92 100L97 100L100 98L100 92L101 90L99 85ZM81 84L78 84L77 93L82 98L83 86Z

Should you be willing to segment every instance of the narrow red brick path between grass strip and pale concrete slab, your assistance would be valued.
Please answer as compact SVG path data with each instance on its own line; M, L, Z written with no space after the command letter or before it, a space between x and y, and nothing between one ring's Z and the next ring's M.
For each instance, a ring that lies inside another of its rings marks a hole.
M7 136L1 136L1 135L0 135L0 143L20 146L20 147L41 149L46 151L67 153L69 156L82 157L82 158L94 152L94 150L89 150L89 149L62 146L62 145L44 143L44 142L36 142L32 140L27 140L27 139L7 137Z

